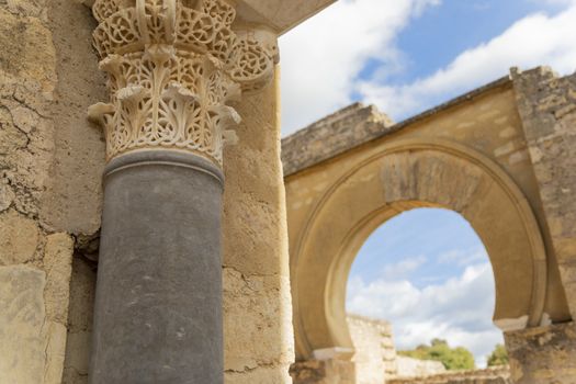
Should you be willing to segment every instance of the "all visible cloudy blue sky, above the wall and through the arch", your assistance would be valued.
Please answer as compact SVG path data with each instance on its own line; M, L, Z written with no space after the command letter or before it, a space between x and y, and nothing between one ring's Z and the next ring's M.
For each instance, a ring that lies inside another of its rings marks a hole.
M339 0L280 39L282 133L354 101L395 121L508 75L576 69L576 0ZM482 242L459 215L403 214L349 280L350 310L389 319L399 348L433 337L482 360L501 340Z

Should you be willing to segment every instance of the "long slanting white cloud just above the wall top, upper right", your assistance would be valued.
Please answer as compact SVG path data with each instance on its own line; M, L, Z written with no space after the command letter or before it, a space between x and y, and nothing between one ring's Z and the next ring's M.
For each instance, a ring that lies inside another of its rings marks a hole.
M574 3L574 1L572 1ZM391 87L361 81L358 91L369 103L394 116L407 116L445 99L448 94L487 83L508 74L510 67L552 66L561 74L576 69L576 5L555 16L527 16L501 35L460 54L448 67L413 83Z

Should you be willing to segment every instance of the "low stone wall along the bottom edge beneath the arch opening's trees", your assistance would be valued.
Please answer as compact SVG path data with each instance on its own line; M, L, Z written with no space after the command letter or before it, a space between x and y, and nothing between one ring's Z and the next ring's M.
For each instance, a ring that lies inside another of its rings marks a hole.
M453 371L420 377L394 377L387 384L512 384L508 366Z

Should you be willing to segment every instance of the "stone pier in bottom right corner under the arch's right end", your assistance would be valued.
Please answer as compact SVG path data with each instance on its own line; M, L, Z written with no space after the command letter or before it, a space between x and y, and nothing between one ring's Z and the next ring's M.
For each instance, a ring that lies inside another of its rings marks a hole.
M574 383L576 326L574 323L505 332L516 384Z

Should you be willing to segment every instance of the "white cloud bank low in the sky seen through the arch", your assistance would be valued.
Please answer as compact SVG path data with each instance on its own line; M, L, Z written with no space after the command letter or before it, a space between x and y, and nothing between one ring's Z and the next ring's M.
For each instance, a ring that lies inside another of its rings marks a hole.
M468 348L483 365L494 346L502 342L492 324L494 276L489 263L468 266L461 276L418 289L407 280L379 279L366 283L353 276L347 310L392 321L398 349L433 338Z

